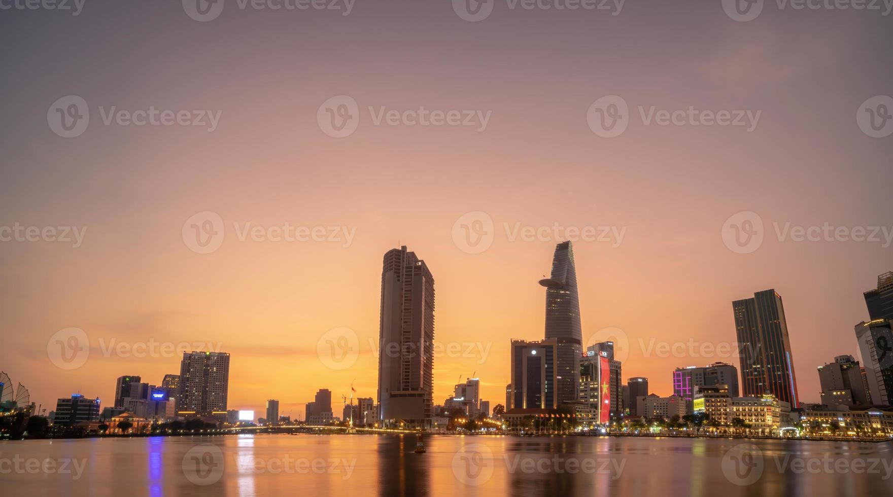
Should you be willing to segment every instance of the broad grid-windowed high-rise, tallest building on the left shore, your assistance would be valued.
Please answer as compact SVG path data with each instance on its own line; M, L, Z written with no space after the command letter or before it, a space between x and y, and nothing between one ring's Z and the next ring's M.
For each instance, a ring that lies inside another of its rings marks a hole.
M213 416L225 420L229 390L229 353L183 352L177 392L179 416Z

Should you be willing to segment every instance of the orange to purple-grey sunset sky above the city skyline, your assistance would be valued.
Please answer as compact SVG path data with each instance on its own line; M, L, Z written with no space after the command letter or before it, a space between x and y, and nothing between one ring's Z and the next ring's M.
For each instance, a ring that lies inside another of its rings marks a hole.
M296 418L329 388L339 416L351 385L376 396L400 245L435 278L437 403L472 375L505 402L568 236L585 344L625 345L624 379L655 393L738 364L731 302L768 288L803 400L856 353L862 294L893 269L893 16L189 3L0 12L0 369L44 408L111 405L115 377L160 384L187 347L230 352L230 409Z

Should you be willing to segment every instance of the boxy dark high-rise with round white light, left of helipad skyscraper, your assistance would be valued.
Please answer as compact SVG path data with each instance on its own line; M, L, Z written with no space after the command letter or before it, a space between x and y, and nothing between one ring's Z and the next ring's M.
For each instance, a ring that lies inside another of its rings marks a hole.
M558 340L512 340L512 409L555 409ZM575 395L576 396L576 395Z

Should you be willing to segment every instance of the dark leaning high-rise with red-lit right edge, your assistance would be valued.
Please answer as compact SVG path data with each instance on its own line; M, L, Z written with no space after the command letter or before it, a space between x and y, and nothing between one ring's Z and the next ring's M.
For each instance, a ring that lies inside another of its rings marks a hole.
M757 292L754 298L732 302L732 310L743 394L762 397L772 393L797 409L797 377L781 295L772 289Z

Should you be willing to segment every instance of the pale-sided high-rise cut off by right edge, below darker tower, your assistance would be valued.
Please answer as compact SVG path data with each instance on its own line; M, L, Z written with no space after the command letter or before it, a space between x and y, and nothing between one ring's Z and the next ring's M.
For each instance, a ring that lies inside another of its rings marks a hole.
M873 319L855 325L855 338L862 354L872 404L893 405L893 328L890 320Z

